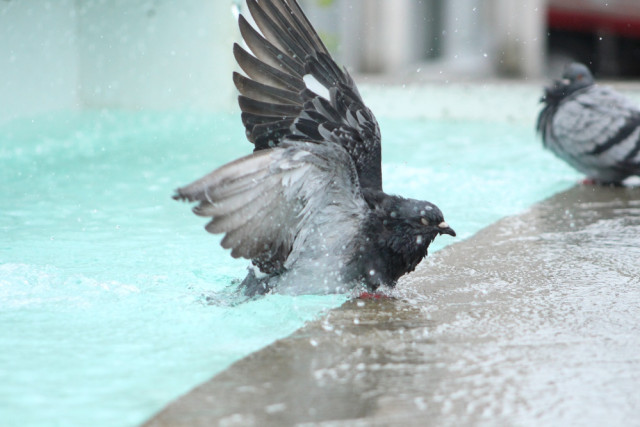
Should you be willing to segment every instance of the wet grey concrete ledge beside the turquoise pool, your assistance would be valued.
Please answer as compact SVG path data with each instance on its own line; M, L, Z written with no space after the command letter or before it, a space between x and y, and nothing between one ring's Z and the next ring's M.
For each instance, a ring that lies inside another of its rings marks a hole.
M640 189L578 186L232 365L148 426L640 425Z

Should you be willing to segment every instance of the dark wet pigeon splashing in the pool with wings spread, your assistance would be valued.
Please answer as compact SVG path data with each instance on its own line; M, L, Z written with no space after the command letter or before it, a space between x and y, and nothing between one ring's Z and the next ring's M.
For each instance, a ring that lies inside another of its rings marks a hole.
M394 286L440 234L432 203L382 190L380 130L295 0L247 0L252 54L234 45L233 74L254 152L176 190L199 202L206 230L252 261L245 295Z

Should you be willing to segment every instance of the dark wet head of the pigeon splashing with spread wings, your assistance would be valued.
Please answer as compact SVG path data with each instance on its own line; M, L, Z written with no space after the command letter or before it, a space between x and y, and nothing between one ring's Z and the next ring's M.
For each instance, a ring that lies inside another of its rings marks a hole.
M414 234L430 236L431 239L440 234L456 235L444 220L440 209L433 203L402 198L391 211L390 216L410 226Z

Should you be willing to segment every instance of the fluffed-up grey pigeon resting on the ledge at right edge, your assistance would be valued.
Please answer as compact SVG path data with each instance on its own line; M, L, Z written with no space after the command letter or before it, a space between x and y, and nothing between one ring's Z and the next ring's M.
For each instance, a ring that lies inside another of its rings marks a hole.
M562 77L542 98L537 130L544 147L596 183L640 174L640 108L595 84L583 64L568 65Z

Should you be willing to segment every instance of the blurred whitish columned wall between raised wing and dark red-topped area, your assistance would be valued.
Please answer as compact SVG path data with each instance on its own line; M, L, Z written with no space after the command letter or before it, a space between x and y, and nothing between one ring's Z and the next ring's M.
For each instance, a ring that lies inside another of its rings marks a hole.
M320 33L338 40L339 61L359 72L402 75L426 67L428 74L432 66L432 73L454 78L530 78L543 71L546 2L335 0L323 7L306 0L304 6ZM440 49L436 60L430 46Z

